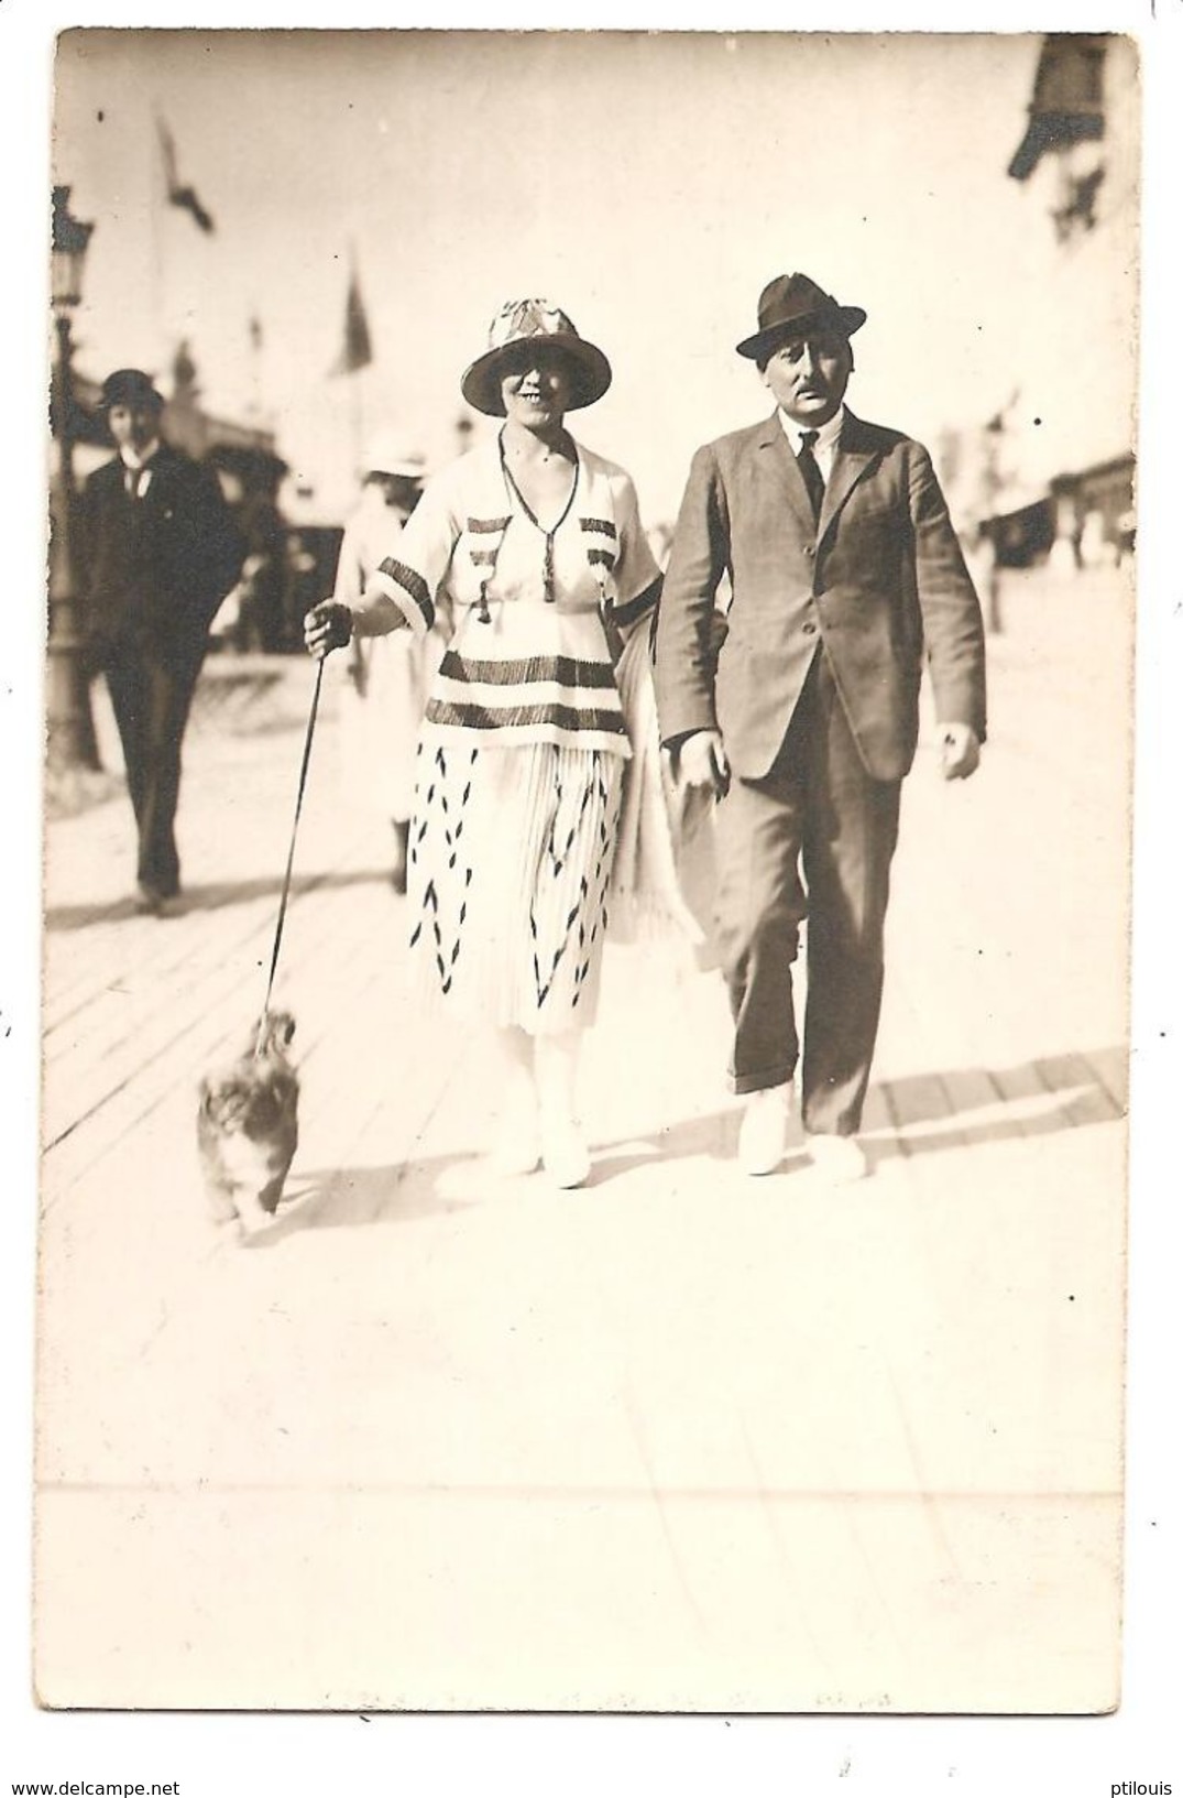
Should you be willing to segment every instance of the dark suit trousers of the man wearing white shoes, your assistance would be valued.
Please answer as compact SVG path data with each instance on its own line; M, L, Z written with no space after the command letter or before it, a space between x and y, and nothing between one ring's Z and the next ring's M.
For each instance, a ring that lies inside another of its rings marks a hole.
M899 780L872 780L818 649L784 744L760 780L732 779L716 809L717 931L735 1025L734 1091L789 1081L798 1063L793 962L805 922L802 1118L861 1122L883 996L883 922Z

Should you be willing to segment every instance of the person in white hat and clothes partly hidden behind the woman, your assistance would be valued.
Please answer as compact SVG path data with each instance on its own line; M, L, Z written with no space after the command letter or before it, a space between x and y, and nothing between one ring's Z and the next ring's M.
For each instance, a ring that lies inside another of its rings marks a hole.
M361 498L345 521L333 599L360 602L387 556L397 554L403 525L414 512L424 458L390 432L379 432L365 451ZM361 795L394 832L390 881L406 892L406 838L415 793L415 746L426 703L428 678L442 654L442 635L356 638L351 644L342 692L342 759L345 788Z

